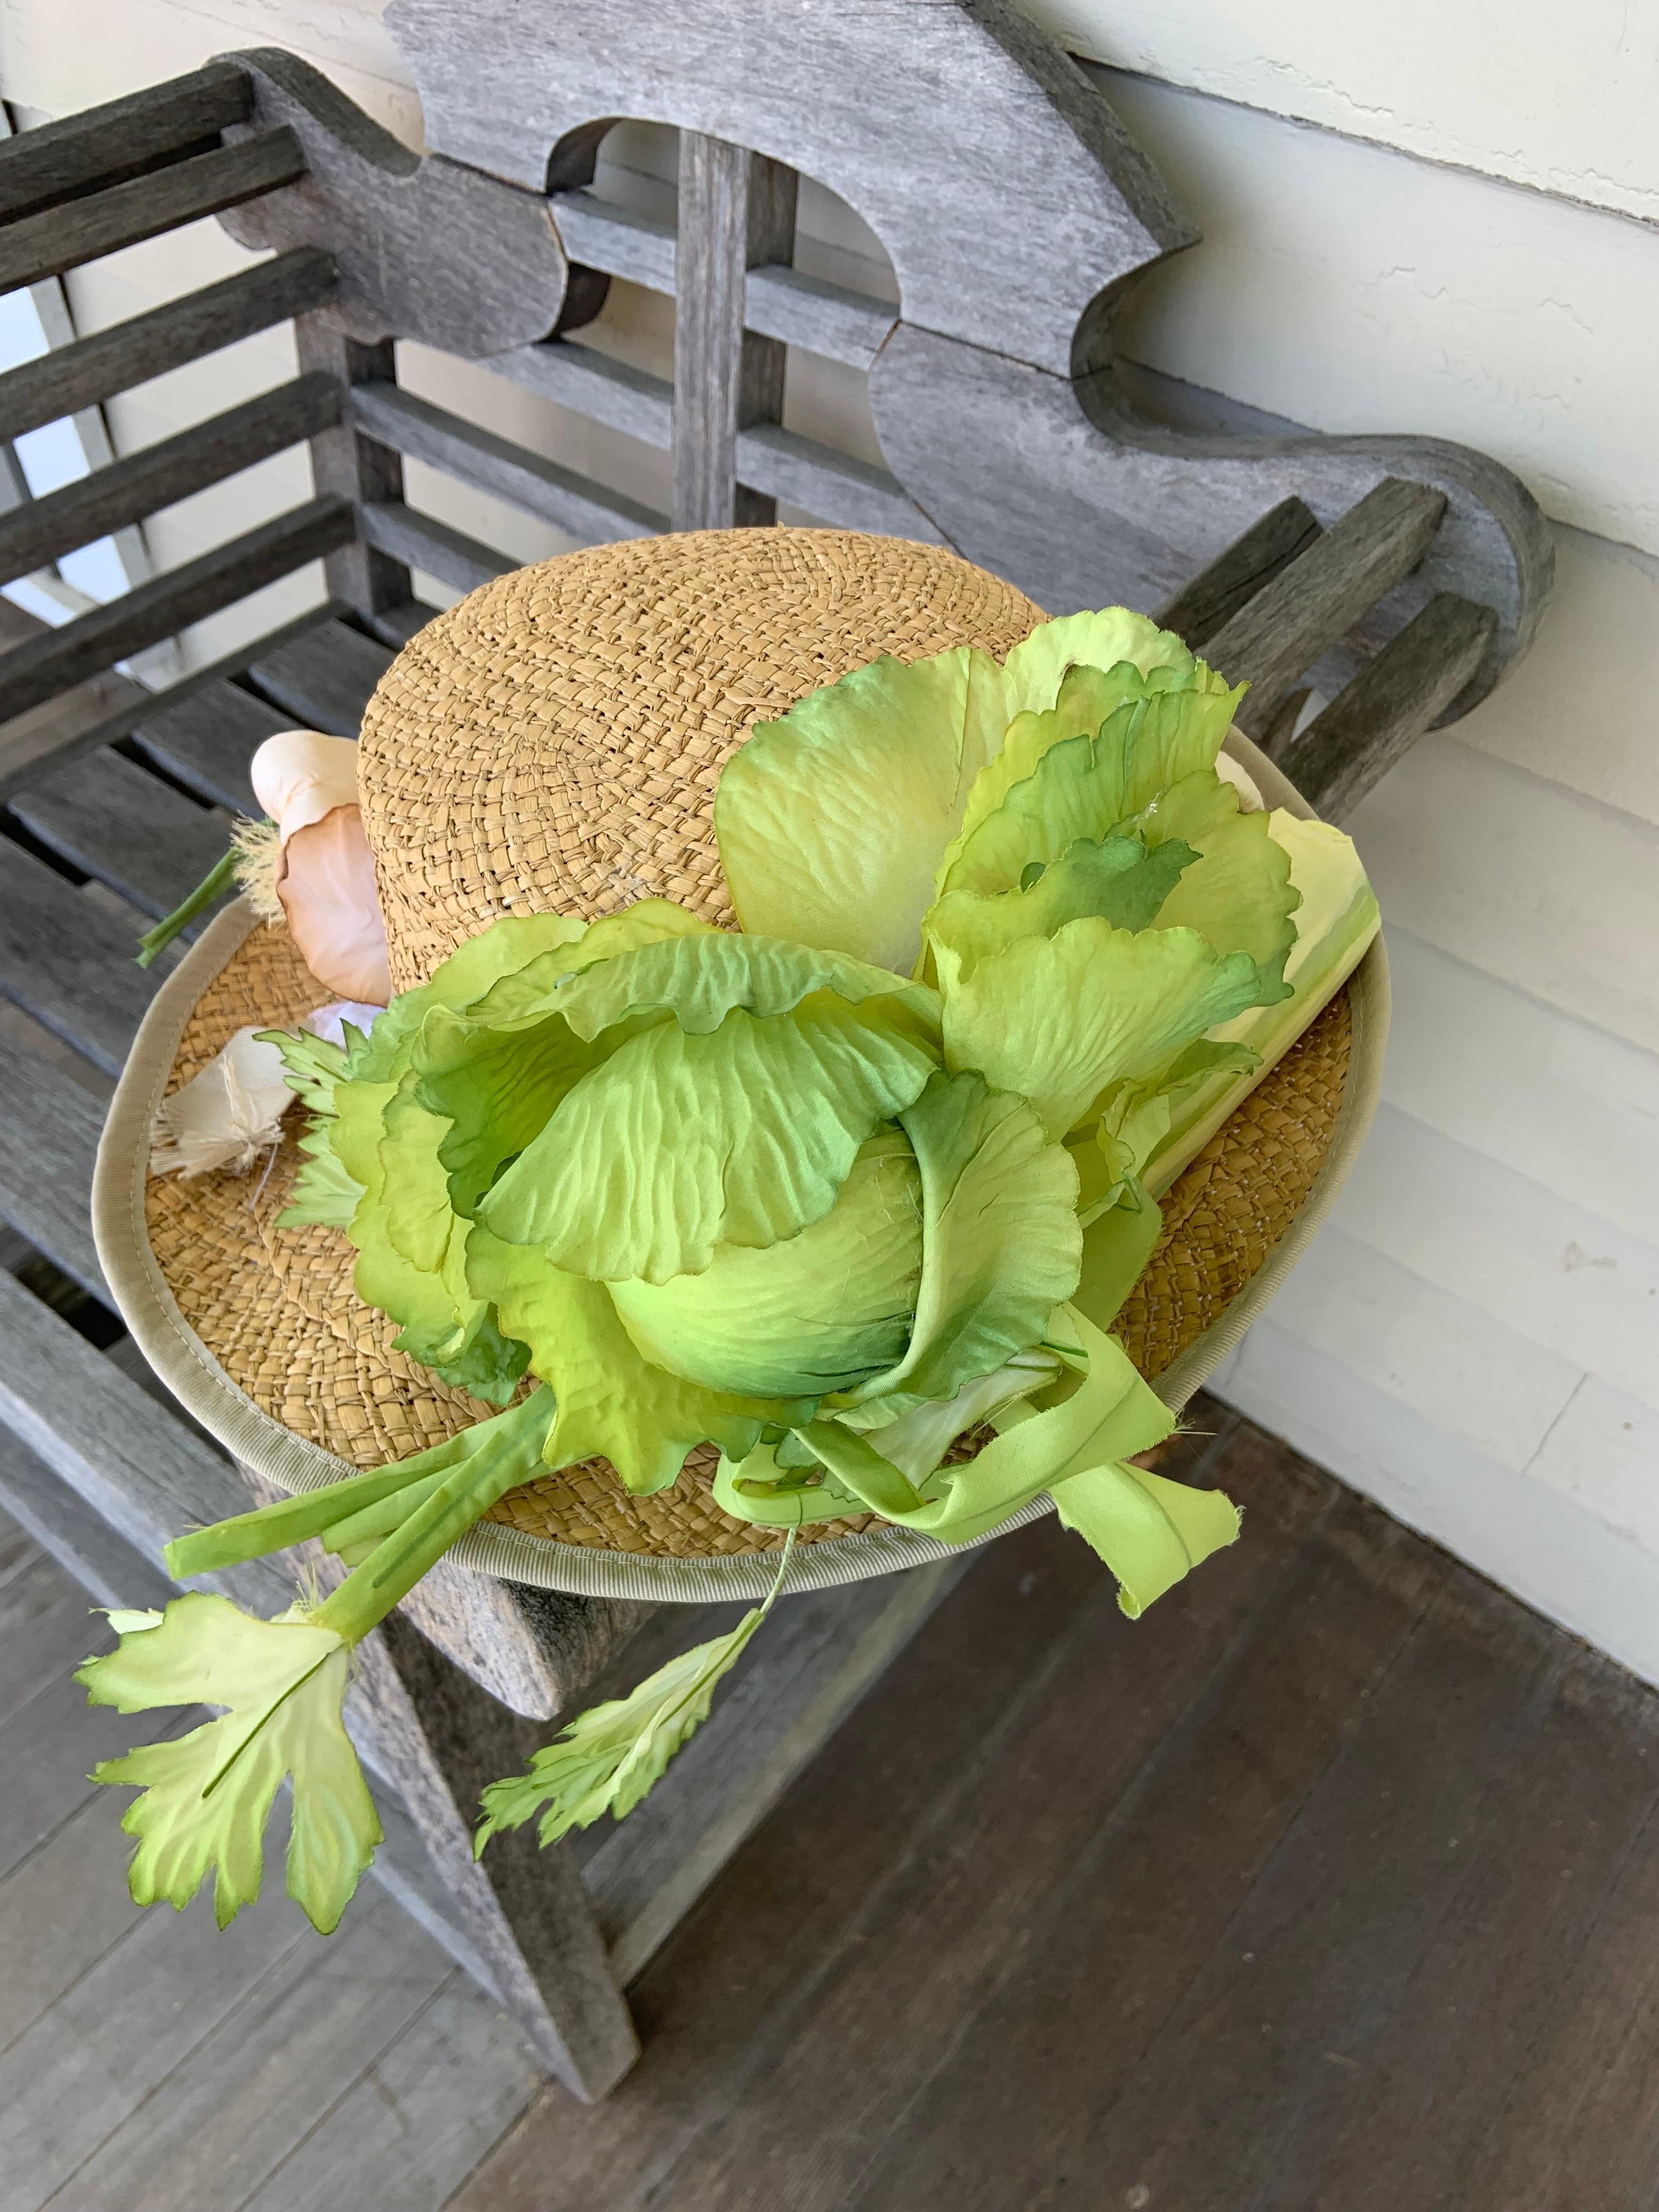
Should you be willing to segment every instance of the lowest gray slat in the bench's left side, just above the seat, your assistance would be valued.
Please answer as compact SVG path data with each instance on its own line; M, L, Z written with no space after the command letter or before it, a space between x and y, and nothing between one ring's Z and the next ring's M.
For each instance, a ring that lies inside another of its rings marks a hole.
M279 575L292 575L307 560L347 544L352 535L354 520L345 500L310 500L135 586L108 606L77 615L62 630L13 646L0 655L0 719L22 714L113 661L173 637L186 624L217 615L221 606L234 606Z

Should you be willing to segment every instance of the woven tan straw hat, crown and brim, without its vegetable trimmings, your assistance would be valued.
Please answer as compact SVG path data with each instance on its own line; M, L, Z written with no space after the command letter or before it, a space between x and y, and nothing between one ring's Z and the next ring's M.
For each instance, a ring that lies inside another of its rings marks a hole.
M883 653L1002 657L1046 619L938 546L843 531L653 538L504 575L420 630L363 719L358 787L394 991L504 914L679 900L732 920L714 783L757 719ZM1270 805L1310 810L1241 737ZM95 1190L106 1276L184 1407L281 1489L378 1467L493 1411L392 1349L334 1228L279 1230L301 1115L270 1168L148 1172L159 1102L243 1024L334 993L239 900L159 991L111 1108ZM1380 945L1164 1197L1164 1237L1115 1334L1179 1409L1272 1296L1365 1133L1387 1029ZM710 1495L712 1447L635 1498L606 1462L511 1491L453 1557L604 1597L754 1595L783 1542ZM1024 1515L1046 1511L1046 1498ZM938 1557L874 1517L801 1531L794 1588Z

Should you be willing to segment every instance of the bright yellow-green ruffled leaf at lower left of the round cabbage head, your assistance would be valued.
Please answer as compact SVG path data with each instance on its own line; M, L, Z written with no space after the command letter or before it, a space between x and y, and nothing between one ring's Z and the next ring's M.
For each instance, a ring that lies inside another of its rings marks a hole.
M549 1467L606 1458L630 1491L646 1495L675 1480L695 1444L708 1440L741 1455L754 1449L768 1420L801 1411L703 1389L653 1367L617 1318L606 1285L549 1265L531 1245L509 1245L478 1228L469 1272L553 1387Z

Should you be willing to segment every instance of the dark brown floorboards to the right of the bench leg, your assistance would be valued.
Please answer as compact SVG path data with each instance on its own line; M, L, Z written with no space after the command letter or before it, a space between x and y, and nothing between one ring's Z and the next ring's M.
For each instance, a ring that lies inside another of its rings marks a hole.
M1248 1533L1133 1628L991 1546L453 2212L1646 2203L1659 1699L1248 1425L1199 1473Z

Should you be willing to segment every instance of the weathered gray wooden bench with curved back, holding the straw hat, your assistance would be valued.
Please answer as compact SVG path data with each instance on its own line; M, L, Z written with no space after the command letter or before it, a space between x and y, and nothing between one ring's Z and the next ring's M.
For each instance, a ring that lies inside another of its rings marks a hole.
M283 53L0 146L0 288L219 215L272 257L0 376L0 436L292 321L299 376L0 515L0 584L283 451L314 498L49 630L0 613L0 1498L100 1599L164 1590L159 1553L246 1504L230 1460L148 1387L86 1228L100 1086L161 969L133 964L252 810L248 761L296 723L354 734L429 617L411 568L513 562L422 513L420 460L580 542L823 522L956 544L1053 613L1159 613L1232 679L1250 732L1340 816L1524 650L1551 577L1528 493L1416 438L1241 436L1113 361L1135 270L1190 243L1095 82L1002 0L880 11L688 0L396 0L431 150L407 153ZM593 188L617 117L679 126L677 221ZM796 181L849 201L900 303L794 268ZM675 378L584 343L611 279L675 301ZM405 392L396 338L672 453L672 513ZM790 347L869 378L887 467L783 427ZM1186 416L1186 418L1183 418ZM330 599L161 692L117 664L321 557ZM1310 688L1329 703L1312 719ZM438 1573L365 1648L354 1725L378 1871L582 2097L637 2042L622 1989L960 1573L794 1599L750 1677L622 1827L469 1851L482 1781L577 1699L712 1632L710 1610ZM288 1597L272 1566L223 1577ZM757 1694L763 1679L765 1694Z

